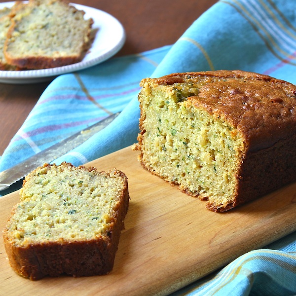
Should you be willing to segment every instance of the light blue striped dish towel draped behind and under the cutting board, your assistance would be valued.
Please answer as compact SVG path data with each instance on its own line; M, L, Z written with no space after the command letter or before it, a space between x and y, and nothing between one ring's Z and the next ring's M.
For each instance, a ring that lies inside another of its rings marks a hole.
M122 112L106 129L55 162L79 165L129 146L138 133L142 78L220 69L258 72L296 84L296 1L220 0L173 45L61 75L11 140L0 171L117 111ZM296 233L239 257L174 295L296 295Z

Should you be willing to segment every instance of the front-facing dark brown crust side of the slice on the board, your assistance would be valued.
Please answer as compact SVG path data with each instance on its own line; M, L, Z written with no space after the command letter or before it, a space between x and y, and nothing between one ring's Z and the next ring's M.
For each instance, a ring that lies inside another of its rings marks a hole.
M5 239L4 245L11 267L19 275L38 280L44 276L74 277L103 275L111 271L118 244L117 227L112 241L106 238L88 242L49 243L32 248L15 247Z

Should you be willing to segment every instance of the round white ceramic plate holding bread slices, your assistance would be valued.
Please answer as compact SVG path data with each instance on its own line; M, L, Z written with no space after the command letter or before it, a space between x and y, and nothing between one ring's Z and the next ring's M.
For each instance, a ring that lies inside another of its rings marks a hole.
M14 2L0 3L0 9L11 7ZM3 83L36 83L51 80L54 77L72 73L102 63L117 53L125 42L125 32L120 22L109 13L80 4L71 3L79 10L85 11L85 19L92 18L92 28L97 30L92 46L79 63L42 70L0 71L0 82Z

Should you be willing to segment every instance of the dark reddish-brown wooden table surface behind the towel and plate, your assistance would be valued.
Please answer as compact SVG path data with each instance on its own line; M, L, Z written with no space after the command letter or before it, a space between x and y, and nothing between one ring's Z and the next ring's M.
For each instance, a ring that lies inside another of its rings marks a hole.
M217 0L74 0L116 17L126 31L117 56L173 44ZM49 82L0 83L0 155L27 118Z

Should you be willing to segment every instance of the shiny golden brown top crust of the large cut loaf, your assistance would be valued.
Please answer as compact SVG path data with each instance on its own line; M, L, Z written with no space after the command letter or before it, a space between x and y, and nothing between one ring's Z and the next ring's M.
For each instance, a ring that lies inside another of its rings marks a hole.
M287 81L221 70L170 74L154 82L171 85L201 77L207 84L197 96L188 98L188 104L227 118L245 136L251 151L268 148L296 133L296 86Z

